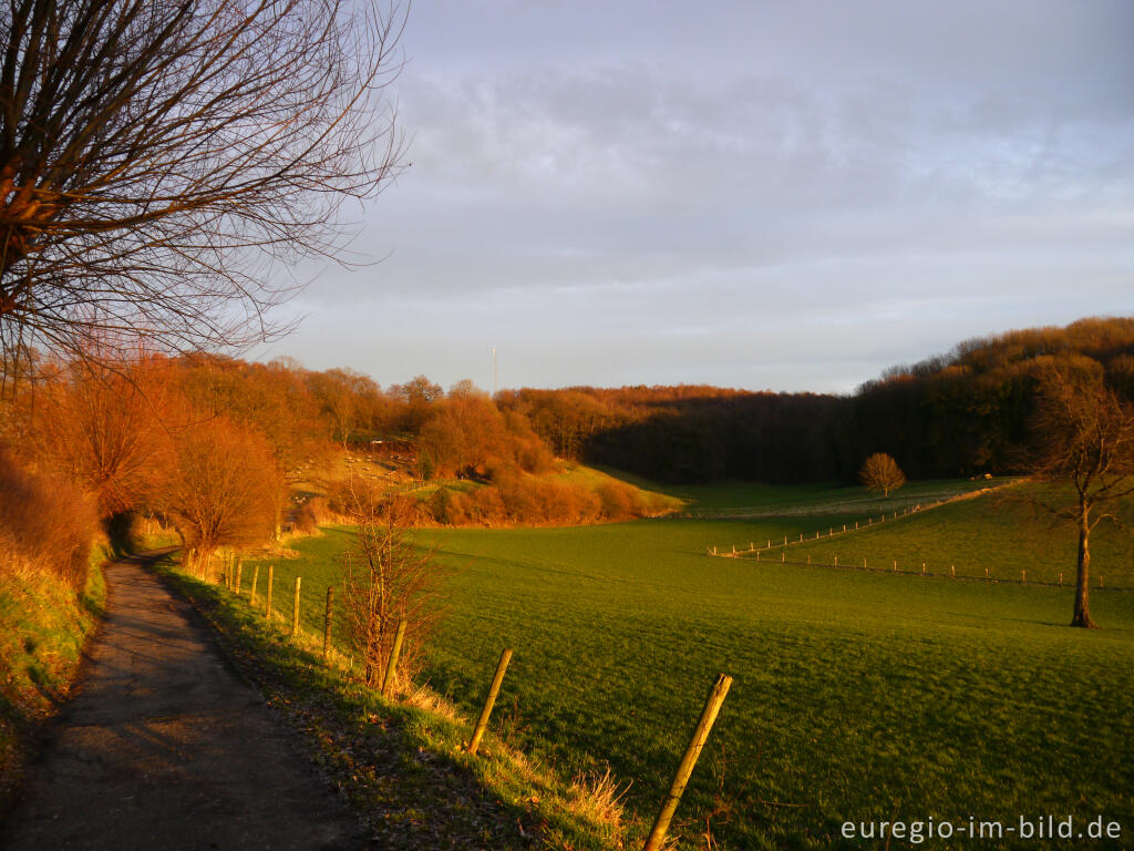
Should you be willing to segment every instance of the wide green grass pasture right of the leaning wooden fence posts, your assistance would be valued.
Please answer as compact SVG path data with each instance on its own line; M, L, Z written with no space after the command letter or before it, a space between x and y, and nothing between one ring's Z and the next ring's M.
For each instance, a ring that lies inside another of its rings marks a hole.
M1118 820L1123 839L1093 846L1129 843L1134 593L1093 592L1106 629L1088 632L1064 625L1066 588L706 557L712 545L866 516L824 513L853 505L850 491L761 492L748 506L718 494L713 507L770 514L779 502L782 516L421 533L451 568L432 684L473 715L513 647L498 730L567 775L609 765L633 782L626 801L648 821L716 674L733 674L678 810L683 848L704 848L706 832L728 849L856 848L839 836L845 820L1015 825L1049 814ZM810 507L793 512L792 499ZM1022 531L1019 515L988 497L958 503L840 538L840 561L854 540L868 558L948 546L958 571L1010 572L1024 549L1061 565L1070 533ZM299 541L302 559L276 564L284 588L304 576L312 631L347 534ZM1128 571L1109 563L1120 550L1100 540L1098 570Z

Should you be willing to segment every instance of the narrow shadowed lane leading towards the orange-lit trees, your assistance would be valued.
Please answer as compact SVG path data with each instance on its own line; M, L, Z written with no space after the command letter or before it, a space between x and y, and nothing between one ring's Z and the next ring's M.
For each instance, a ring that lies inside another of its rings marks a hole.
M105 571L107 616L0 848L356 849L357 821L152 573Z

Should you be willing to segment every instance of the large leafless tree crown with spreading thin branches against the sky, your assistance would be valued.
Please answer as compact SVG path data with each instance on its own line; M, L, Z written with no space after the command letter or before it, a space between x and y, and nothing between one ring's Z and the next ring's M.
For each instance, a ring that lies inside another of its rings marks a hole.
M342 247L401 137L397 8L365 0L0 6L0 346L240 345Z

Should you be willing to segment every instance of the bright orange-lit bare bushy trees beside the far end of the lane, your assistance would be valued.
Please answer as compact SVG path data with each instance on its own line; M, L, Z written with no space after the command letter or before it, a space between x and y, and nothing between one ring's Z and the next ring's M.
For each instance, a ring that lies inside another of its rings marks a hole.
M164 359L57 364L5 399L2 437L90 494L104 521L162 515L204 570L219 547L272 534L284 480L262 433L195 407L180 378Z

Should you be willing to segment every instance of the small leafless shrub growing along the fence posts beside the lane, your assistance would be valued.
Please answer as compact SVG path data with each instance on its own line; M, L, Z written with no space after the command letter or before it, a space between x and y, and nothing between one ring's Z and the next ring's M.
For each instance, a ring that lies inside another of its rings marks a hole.
M406 506L356 494L357 532L344 554L346 632L370 686L381 684L398 623L406 622L397 675L407 676L437 620L438 567L414 547Z

